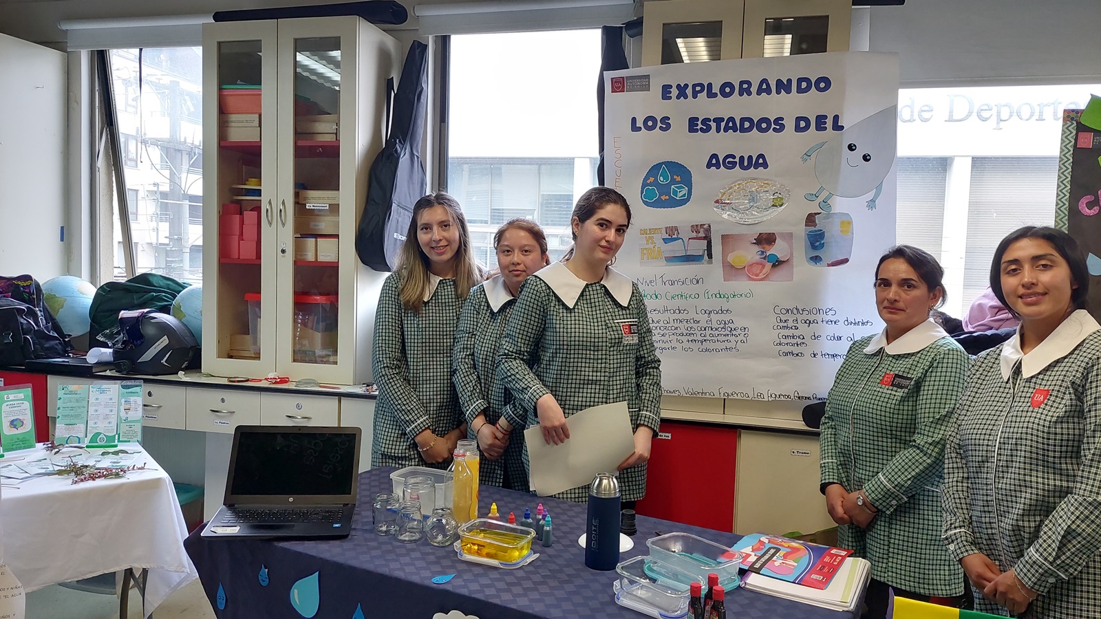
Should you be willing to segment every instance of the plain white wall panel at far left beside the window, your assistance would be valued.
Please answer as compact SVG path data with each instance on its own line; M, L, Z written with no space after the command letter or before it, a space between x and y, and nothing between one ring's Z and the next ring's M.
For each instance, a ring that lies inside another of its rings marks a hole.
M65 54L0 34L0 275L66 272Z

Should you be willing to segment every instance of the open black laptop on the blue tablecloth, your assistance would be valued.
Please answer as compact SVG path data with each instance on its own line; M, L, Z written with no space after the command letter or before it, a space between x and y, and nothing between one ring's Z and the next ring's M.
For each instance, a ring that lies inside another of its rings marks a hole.
M239 425L226 499L204 537L347 537L360 428Z

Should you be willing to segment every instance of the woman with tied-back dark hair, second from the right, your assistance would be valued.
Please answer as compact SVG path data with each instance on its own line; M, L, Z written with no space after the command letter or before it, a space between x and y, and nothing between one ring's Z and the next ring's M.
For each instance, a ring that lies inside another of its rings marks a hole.
M838 542L872 564L865 618L895 595L951 604L963 574L940 543L941 454L969 357L931 318L944 269L898 246L880 258L882 333L849 347L821 423L821 490ZM959 601L959 598L955 601Z

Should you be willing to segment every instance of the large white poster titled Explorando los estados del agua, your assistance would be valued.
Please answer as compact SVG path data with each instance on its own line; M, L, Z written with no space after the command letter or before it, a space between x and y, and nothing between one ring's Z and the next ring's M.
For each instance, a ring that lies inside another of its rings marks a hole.
M879 332L895 239L898 62L844 52L604 74L606 184L632 205L663 392L826 398Z

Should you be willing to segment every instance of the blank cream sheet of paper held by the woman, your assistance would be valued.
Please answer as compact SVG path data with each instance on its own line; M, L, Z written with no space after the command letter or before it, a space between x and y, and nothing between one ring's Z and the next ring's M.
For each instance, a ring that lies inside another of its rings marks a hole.
M626 402L592 406L566 420L569 439L547 445L534 425L524 431L531 461L532 488L541 497L588 486L598 473L615 468L634 453L631 413Z

